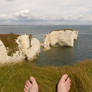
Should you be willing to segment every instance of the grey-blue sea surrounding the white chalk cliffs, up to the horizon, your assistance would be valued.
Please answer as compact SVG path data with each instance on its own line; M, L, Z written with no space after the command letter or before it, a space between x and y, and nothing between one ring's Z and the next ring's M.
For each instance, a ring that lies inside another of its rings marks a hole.
M92 26L91 25L0 25L0 34L32 34L41 42L47 33L55 29L78 30L78 40L73 48L57 47L43 51L32 63L40 66L73 65L86 59L92 59Z

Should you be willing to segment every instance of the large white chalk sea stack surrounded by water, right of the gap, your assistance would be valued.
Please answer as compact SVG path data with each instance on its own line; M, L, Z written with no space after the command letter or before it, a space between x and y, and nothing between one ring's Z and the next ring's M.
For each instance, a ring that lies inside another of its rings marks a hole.
M55 30L47 34L44 41L44 48L49 50L51 46L74 46L74 40L77 40L78 31L75 30Z

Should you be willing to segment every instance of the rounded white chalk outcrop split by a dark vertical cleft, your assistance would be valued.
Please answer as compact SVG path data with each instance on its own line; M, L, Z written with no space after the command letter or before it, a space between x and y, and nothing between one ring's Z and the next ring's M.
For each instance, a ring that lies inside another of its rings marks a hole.
M18 43L20 53L27 60L33 60L40 53L40 42L36 38L32 38L29 35L22 35L18 37L16 42Z

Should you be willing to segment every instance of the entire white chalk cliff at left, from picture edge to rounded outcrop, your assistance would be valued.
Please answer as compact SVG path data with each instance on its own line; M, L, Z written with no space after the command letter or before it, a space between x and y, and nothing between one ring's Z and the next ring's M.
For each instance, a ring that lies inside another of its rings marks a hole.
M0 63L19 62L24 59L33 60L40 53L40 42L30 35L21 35L16 40L19 51L8 56L7 49L0 40Z

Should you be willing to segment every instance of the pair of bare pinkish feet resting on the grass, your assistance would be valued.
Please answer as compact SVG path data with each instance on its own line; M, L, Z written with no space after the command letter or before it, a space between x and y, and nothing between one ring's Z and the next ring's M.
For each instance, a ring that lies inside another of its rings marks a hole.
M59 80L57 86L57 92L69 92L71 85L71 80L67 74L64 74ZM30 80L27 80L24 92L38 92L39 87L34 77L30 77Z

